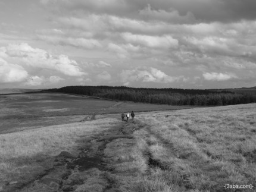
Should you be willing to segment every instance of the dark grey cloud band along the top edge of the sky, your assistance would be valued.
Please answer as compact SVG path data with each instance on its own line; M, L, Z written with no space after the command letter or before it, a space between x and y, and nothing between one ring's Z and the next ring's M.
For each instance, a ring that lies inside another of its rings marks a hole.
M67 0L46 1L43 4L48 8L55 10L76 11L86 10L88 12L126 15L132 17L138 10L143 10L147 4L150 4L155 10L169 11L170 8L177 10L181 15L191 12L198 20L211 21L237 21L254 20L256 13L254 8L256 2L252 0L73 0L72 3Z

